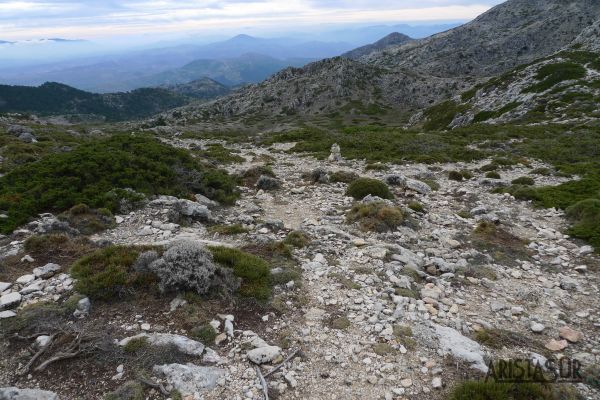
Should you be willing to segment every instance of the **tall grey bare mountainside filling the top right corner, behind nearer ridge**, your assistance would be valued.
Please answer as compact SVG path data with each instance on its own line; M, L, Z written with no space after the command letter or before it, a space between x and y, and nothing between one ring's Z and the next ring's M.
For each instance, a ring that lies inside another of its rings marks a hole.
M510 0L463 26L364 61L433 76L490 77L560 50L598 18L594 0Z

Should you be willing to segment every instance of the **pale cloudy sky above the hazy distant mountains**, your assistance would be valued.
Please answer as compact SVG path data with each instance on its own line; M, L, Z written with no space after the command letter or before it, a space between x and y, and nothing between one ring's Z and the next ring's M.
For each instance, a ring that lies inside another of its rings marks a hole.
M0 0L0 39L464 21L502 0Z

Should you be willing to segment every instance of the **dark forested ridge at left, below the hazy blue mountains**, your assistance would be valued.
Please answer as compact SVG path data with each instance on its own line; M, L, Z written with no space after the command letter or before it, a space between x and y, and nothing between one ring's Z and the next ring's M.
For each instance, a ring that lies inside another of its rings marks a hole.
M0 85L0 113L93 115L114 122L146 118L190 101L161 88L96 94L54 82L39 87Z

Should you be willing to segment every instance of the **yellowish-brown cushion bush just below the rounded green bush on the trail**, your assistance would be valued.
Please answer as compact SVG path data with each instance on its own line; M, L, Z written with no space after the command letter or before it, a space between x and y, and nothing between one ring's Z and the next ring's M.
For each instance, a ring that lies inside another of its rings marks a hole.
M383 202L357 203L348 212L346 220L348 223L359 222L366 231L387 232L404 222L404 213Z

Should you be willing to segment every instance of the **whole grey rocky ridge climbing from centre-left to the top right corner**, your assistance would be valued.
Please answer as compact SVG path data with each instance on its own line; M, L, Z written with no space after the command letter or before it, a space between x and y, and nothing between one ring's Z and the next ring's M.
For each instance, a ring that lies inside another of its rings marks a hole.
M548 56L574 40L594 45L593 35L584 36L597 29L590 27L597 26L599 17L600 5L593 0L509 0L466 25L371 53L360 63L333 58L288 69L183 114L212 121L315 116L352 107L352 101L361 99L362 115L371 107L389 108L399 117L460 93L479 79Z

